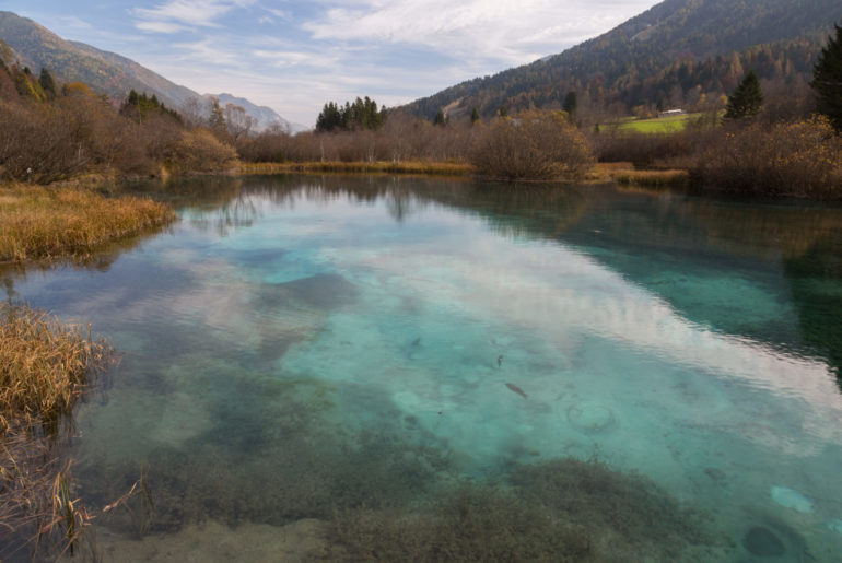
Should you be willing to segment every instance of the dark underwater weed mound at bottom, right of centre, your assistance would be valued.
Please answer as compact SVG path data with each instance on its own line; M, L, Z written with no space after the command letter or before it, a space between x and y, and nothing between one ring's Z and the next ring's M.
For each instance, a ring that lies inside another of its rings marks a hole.
M573 458L460 482L404 512L341 513L332 532L351 561L698 561L722 548L704 514L648 479Z

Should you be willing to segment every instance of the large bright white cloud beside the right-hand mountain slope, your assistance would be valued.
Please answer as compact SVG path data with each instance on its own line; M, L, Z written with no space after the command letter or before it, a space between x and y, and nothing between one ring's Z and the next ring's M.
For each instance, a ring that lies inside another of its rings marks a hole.
M323 1L303 27L314 39L425 45L466 60L523 63L605 32L652 0Z

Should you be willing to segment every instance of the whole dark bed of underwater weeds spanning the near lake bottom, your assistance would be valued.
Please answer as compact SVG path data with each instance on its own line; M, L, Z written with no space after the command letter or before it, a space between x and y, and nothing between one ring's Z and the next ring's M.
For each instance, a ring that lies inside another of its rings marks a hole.
M330 422L330 397L348 389L225 373L231 384L213 404L212 425L145 456L152 533L316 518L326 543L314 556L329 561L698 561L723 549L705 514L596 459L468 478L446 448L388 427L352 432ZM86 495L114 497L136 469L125 459L91 460L84 482L112 489ZM104 479L117 472L122 481ZM137 536L129 516L107 525Z

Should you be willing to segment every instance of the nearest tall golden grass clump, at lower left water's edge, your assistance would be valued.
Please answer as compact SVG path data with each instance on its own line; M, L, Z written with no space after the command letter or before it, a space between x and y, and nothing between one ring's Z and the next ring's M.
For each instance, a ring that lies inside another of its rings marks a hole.
M71 551L78 542L91 517L55 438L110 354L90 327L0 305L0 544L35 553L45 538Z

